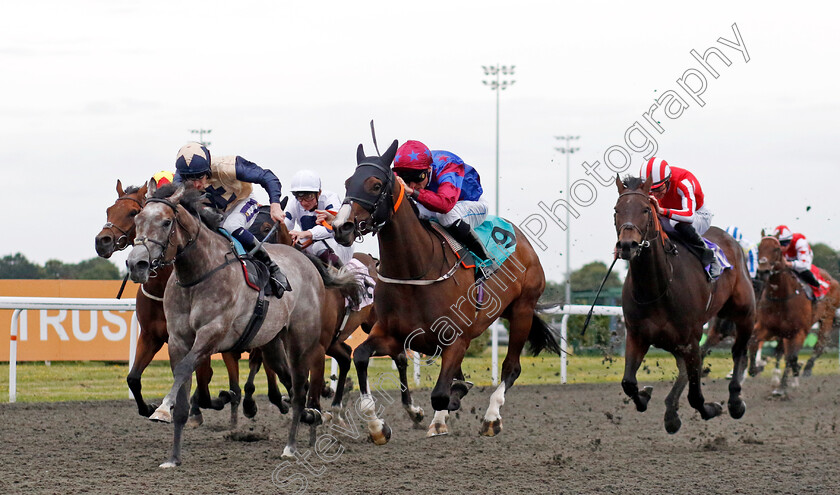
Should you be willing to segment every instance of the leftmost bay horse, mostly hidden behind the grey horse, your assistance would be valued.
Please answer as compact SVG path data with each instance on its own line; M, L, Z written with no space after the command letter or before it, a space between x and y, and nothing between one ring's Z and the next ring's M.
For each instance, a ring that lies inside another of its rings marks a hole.
M154 179L150 180L154 181ZM134 243L136 237L134 218L143 209L146 192L146 184L141 187L130 186L123 190L122 182L117 180L117 200L105 211L107 223L95 239L96 253L99 256L106 259L110 258L115 251L121 251ZM135 312L141 331L137 337L137 352L134 364L126 381L129 390L134 395L134 400L137 402L138 413L145 417L151 416L158 406L157 404L147 404L143 399L141 377L152 358L169 339L166 317L163 313L163 295L166 282L171 274L171 265L161 266L149 277L148 281L140 286L136 295ZM209 359L200 363L196 368L196 391L193 395L190 410L190 424L193 426L198 426L203 422L200 408L220 410L229 402L231 403L231 422L233 425L236 424L236 406L239 404L240 397L239 356L224 353L222 357L228 371L230 390L222 391L219 398L212 399L209 385L213 377L213 368ZM273 372L268 369L266 373L273 375ZM269 382L271 383L272 380L269 380ZM273 383L276 384L276 380ZM276 385L274 388L276 389ZM279 391L276 393L279 394ZM271 389L269 389L269 396L272 396ZM276 397L274 400L280 402L280 399ZM280 405L282 405L282 402Z

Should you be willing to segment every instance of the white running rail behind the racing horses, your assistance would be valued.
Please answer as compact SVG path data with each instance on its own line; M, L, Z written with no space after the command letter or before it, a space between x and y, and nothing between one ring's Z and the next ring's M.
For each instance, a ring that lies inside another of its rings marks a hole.
M96 299L96 298L57 298L57 297L0 297L0 309L14 310L12 313L11 331L9 336L9 402L15 402L17 395L17 338L20 313L22 311L35 310L82 310L82 311L134 311L134 299ZM547 314L563 315L560 323L560 345L565 351L568 333L569 316L585 315L589 312L589 306L573 304L563 306L554 310L546 311ZM596 316L622 316L619 306L595 306L593 315ZM840 316L840 310L837 311ZM497 321L490 327L492 347L491 375L493 385L499 383L499 327ZM128 368L134 364L134 355L137 347L137 336L139 332L137 316L131 317L131 330L129 334ZM840 345L840 343L838 343ZM838 356L840 359L840 356ZM414 353L414 383L420 384L421 358ZM839 363L840 364L840 363ZM560 355L560 383L566 383L567 379L567 355L566 352ZM337 363L332 360L332 374L337 372ZM335 387L335 382L333 382ZM133 398L129 392L129 398Z

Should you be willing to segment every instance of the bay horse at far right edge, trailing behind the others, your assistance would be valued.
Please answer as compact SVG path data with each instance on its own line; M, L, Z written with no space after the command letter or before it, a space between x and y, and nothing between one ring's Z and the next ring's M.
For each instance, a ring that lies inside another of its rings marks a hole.
M787 265L779 240L771 236L763 237L758 244L758 274L765 280L765 289L758 301L755 335L750 341L750 374L756 375L763 369L763 366L755 363L759 343L780 340L785 356L785 371L779 388L773 393L784 395L791 375L796 385L800 371L799 351L811 326L817 322L820 324L817 343L805 364L804 376L810 376L814 361L822 355L832 330L834 313L840 306L840 284L828 272L820 269L820 276L829 282L830 288L823 299L811 302L800 285L799 277Z

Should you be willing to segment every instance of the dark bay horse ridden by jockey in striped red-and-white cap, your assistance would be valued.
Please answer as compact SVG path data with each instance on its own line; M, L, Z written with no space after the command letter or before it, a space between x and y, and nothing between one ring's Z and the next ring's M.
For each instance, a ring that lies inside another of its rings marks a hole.
M616 254L629 261L622 308L627 328L624 377L621 386L640 412L647 410L653 387L639 390L636 372L651 345L669 351L679 376L665 398L665 430L679 431L677 410L688 384L688 402L709 420L723 412L722 404L707 403L700 384L703 358L700 337L712 316L735 324L732 346L734 372L729 381L729 415L741 418L746 404L740 378L747 365L747 344L755 320L755 296L741 246L729 234L713 227L704 235L724 250L732 268L708 282L700 260L683 251L662 231L650 199L651 178L616 177Z

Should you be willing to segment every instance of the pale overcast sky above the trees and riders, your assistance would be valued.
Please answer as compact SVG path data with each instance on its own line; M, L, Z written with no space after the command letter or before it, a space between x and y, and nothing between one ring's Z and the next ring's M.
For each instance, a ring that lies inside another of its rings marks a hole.
M194 128L212 129L211 153L272 169L284 191L310 168L343 196L374 119L383 151L417 139L461 156L492 204L495 94L481 66L495 63L516 66L500 119L512 222L565 198L555 135L581 136L572 182L588 178L583 161L607 175L605 150L627 148L627 128L672 90L688 107L678 118L660 109L664 131L647 131L657 156L698 177L714 224L758 239L787 223L838 249L837 18L790 2L4 2L0 255L95 256L117 179L172 169ZM749 62L718 42L737 40L733 24ZM712 57L717 79L690 54L713 46L731 61ZM703 106L677 82L689 69L707 80ZM615 189L595 190L572 222L573 269L608 261L615 243ZM541 241L548 278L562 280L563 231L548 220Z

